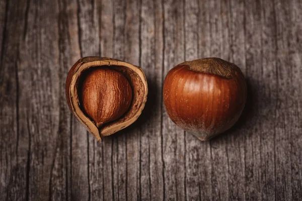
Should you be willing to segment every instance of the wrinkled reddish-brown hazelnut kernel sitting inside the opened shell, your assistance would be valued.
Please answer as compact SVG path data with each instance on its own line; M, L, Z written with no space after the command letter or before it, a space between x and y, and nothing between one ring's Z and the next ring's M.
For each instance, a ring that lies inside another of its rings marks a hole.
M120 118L132 100L131 86L126 77L106 67L92 67L81 76L80 104L100 128Z

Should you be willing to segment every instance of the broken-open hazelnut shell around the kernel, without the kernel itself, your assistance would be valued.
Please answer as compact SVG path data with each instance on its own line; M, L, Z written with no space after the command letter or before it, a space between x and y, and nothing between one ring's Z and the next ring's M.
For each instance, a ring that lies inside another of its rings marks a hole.
M85 70L93 66L106 66L121 72L132 88L132 101L128 111L121 118L104 124L101 128L97 128L95 122L83 112L78 94L79 78ZM103 57L84 57L77 61L68 72L65 89L70 111L98 141L103 136L111 135L135 122L145 106L148 94L147 81L140 67L124 61Z

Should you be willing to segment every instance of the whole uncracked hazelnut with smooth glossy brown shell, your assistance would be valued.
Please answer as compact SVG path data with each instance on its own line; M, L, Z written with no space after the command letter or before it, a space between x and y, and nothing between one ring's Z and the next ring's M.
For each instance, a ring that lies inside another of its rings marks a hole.
M237 122L246 103L247 85L235 64L219 58L197 59L168 72L163 97L175 124L208 140Z

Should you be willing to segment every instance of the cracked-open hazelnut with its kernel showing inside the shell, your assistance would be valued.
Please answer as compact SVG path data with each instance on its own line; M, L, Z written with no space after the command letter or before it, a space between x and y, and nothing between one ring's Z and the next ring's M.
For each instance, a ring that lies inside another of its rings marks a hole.
M65 89L70 111L98 141L135 122L148 93L141 68L102 57L75 63Z

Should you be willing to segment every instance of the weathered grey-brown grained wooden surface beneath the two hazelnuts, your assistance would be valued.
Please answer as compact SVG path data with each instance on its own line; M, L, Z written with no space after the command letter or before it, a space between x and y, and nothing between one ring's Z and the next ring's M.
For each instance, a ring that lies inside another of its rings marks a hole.
M301 200L300 0L0 0L0 200ZM106 56L141 66L146 107L97 142L67 108L69 68ZM169 69L220 57L248 103L201 142L162 102Z

